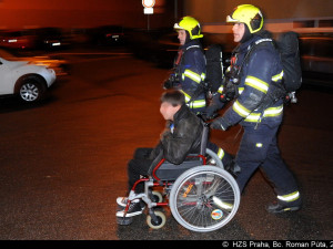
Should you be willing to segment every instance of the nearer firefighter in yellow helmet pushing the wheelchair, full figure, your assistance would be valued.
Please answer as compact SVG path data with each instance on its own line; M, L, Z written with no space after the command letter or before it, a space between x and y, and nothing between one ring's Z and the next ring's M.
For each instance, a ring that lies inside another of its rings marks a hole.
M276 214L299 210L299 187L280 155L276 142L283 101L272 100L271 96L278 91L274 85L282 84L283 69L279 52L272 42L265 42L248 53L263 39L268 39L259 8L252 4L239 6L228 15L226 22L234 23L234 42L239 42L229 69L228 80L232 84L226 84L228 87L224 85L222 94L233 98L233 103L223 116L211 123L211 128L226 131L240 123L244 129L235 157L235 164L241 168L236 178L241 191L260 167L274 185L278 196L276 201L266 208L268 211Z

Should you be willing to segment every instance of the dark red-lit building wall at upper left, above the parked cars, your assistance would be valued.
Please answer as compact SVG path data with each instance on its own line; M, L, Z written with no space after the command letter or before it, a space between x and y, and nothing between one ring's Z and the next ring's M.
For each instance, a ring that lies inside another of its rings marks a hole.
M0 29L108 24L143 29L148 18L154 29L174 23L174 4L181 7L178 0L157 0L154 14L148 17L142 0L0 0Z

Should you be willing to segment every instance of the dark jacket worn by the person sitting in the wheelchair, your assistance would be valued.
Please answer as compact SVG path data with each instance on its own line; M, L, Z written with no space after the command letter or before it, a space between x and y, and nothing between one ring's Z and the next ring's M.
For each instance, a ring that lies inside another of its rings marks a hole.
M152 165L155 166L162 158L179 165L190 153L199 154L202 132L202 121L185 104L182 105L174 114L173 122L167 124L159 145L152 151Z

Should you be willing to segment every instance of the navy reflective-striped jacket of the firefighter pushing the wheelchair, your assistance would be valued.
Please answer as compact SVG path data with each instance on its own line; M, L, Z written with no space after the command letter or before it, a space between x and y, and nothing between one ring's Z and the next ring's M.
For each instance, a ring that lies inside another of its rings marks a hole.
M239 96L224 115L216 120L222 129L238 123L242 126L266 124L275 127L282 122L283 100L272 100L278 91L276 84L282 84L283 77L279 51L272 42L263 42L244 59L248 51L262 40L254 35L236 49L233 66L240 70Z

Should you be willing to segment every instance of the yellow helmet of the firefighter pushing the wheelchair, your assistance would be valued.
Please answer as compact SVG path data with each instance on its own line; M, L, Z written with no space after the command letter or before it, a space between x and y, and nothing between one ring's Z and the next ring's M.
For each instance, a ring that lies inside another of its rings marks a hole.
M226 17L226 22L243 22L251 33L260 31L263 27L263 17L259 8L252 4L238 6L232 14Z

